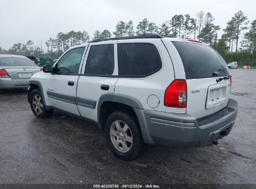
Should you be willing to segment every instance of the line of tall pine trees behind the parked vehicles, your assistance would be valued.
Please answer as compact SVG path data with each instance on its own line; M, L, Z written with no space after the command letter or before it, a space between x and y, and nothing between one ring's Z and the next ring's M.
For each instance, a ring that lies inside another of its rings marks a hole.
M256 20L249 22L244 13L239 11L227 22L227 26L223 29L224 34L220 37L217 35L219 30L220 26L214 23L212 14L200 11L197 12L195 18L189 14L175 15L159 25L148 19L143 19L136 27L134 27L133 21L120 21L116 24L115 31L96 30L93 37L90 37L86 31L59 32L56 37L45 42L47 52L44 52L42 47L34 47L33 42L29 40L26 44L14 44L9 50L0 47L0 53L59 57L73 45L84 44L89 40L150 33L181 39L201 40L216 49L227 62L256 62Z

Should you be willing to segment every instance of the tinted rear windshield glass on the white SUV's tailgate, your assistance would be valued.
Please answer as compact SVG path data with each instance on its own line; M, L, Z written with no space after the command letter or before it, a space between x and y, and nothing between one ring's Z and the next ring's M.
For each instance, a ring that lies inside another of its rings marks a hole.
M173 44L183 61L187 79L210 78L214 72L219 73L219 76L229 75L223 58L211 47L186 42Z

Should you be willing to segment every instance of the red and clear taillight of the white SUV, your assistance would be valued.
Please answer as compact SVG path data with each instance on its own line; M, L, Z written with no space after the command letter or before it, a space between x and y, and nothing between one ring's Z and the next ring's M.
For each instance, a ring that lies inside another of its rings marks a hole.
M164 106L186 108L187 83L186 80L174 80L165 90Z

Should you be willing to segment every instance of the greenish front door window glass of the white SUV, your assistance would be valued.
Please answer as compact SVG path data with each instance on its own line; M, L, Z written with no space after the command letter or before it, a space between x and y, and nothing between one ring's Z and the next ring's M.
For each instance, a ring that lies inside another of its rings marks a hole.
M84 50L85 47L74 48L65 53L65 55L57 63L56 73L64 75L78 73Z

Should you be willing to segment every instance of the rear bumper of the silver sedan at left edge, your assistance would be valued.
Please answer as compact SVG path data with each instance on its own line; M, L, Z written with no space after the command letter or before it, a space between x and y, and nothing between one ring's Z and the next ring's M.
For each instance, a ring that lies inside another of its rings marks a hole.
M11 78L0 78L0 89L25 88L29 86L29 79L12 80Z

